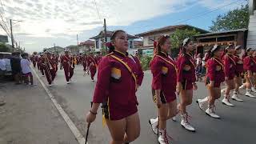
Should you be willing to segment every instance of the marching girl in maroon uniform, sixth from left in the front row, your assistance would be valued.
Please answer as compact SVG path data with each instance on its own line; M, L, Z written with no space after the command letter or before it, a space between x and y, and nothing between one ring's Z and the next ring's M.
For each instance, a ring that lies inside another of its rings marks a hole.
M243 75L243 64L242 64L242 58L239 57L239 54L242 53L242 47L241 46L235 46L234 48L234 61L236 62L235 65L235 77L234 77L234 94L231 97L235 101L243 102L241 98L238 97L239 94L239 86L242 86L242 75Z

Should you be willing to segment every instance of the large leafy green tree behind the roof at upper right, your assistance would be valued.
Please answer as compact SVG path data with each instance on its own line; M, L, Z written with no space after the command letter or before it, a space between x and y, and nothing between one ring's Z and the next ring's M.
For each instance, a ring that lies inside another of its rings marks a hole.
M237 9L230 10L227 14L218 15L212 21L211 31L236 30L248 27L249 24L249 6L240 6Z

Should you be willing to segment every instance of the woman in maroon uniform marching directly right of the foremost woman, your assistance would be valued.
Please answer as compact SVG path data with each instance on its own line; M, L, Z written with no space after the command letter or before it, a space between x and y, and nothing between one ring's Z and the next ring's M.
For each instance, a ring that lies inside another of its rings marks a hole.
M150 125L154 134L158 134L160 144L168 144L166 137L166 121L177 114L176 86L177 66L168 55L170 49L170 37L161 36L154 45L156 54L150 62L150 70L153 74L152 94L154 102L158 106L158 118L151 118ZM158 131L157 131L158 130Z

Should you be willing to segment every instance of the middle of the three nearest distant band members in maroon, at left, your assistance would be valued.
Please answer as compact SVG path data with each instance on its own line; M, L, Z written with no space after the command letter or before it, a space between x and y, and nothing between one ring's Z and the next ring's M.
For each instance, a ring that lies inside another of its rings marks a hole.
M69 54L69 50L64 50L65 54L61 57L61 70L64 68L66 83L70 84L74 74L74 57Z

